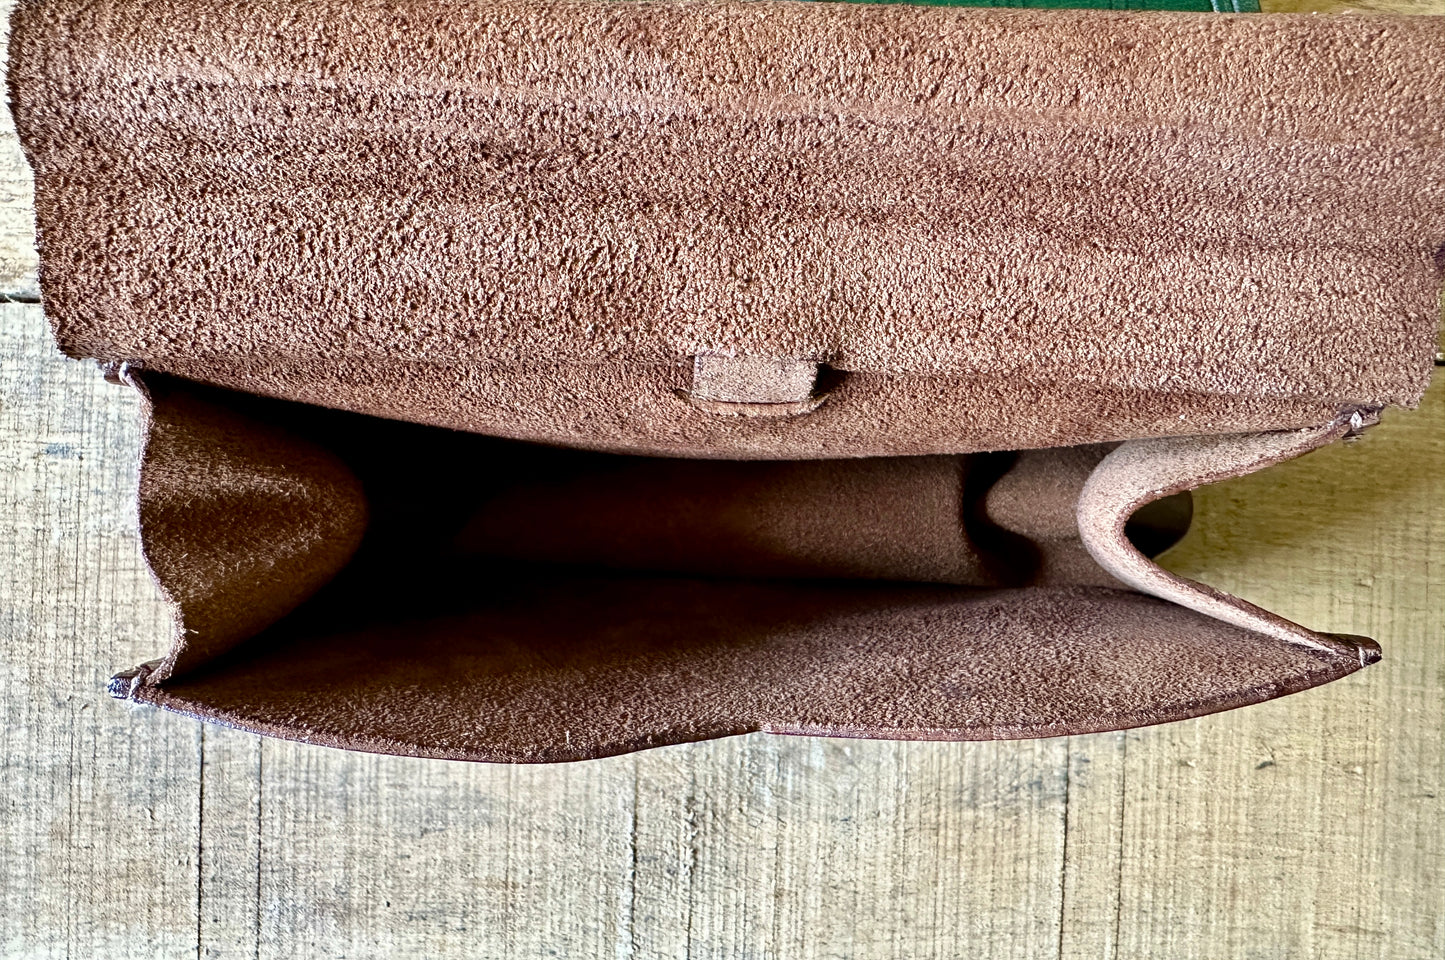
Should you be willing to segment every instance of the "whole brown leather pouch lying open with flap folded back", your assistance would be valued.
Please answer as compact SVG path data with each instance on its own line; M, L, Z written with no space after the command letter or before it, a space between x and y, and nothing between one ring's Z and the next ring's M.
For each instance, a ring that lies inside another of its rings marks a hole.
M10 97L56 338L146 398L117 695L530 762L1379 658L1150 557L1425 390L1439 19L45 0Z

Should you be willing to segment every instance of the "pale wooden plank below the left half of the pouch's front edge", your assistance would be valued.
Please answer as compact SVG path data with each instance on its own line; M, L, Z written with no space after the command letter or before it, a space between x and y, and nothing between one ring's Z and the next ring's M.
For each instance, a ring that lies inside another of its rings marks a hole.
M262 753L256 956L624 954L629 759L509 768L293 743Z

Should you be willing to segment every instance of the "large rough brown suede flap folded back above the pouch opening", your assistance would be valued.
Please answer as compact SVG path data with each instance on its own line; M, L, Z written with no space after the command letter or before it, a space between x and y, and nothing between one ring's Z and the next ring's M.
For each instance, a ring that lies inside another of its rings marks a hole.
M1303 427L1428 377L1438 17L46 0L12 45L74 356L780 458ZM711 353L844 376L725 416L678 396Z

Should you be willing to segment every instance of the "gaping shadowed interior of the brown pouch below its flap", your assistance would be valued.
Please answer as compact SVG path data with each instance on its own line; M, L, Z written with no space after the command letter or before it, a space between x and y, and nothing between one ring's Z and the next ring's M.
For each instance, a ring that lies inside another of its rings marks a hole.
M1120 583L1159 570L1130 536L1153 552L1189 520L1159 492L1114 547L1082 542L1127 444L665 460L137 386L178 640L117 693L273 736L538 762L753 730L1052 736L1266 700L1373 649Z

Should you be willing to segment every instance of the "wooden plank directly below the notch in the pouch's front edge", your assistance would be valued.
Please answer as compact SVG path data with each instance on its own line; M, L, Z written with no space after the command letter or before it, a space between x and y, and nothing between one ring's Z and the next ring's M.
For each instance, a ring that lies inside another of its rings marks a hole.
M1065 746L753 736L643 755L640 953L1053 956Z

